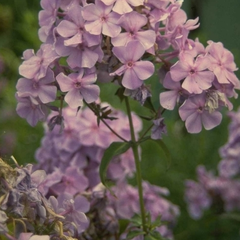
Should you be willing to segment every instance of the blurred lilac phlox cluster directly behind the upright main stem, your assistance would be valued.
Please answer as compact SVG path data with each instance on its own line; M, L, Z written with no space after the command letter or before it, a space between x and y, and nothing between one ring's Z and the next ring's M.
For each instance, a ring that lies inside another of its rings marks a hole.
M56 126L52 131L46 126L41 147L36 151L38 164L35 168L47 172L38 189L49 201L54 202L52 204L57 214L61 214L62 211L57 209L66 199L85 199L86 203L78 200L74 209L86 214L88 220L83 217L74 218L72 214L71 219L68 215L66 218L78 226L78 236L82 237L80 239L111 239L119 234L120 219L131 219L140 213L138 190L127 182L135 172L132 151L130 149L114 157L109 165L107 175L115 183L112 191L116 196L112 196L101 184L99 164L105 149L116 141L116 136L102 123L98 127L97 117L88 108L81 109L77 116L74 109L64 108L62 114L65 119L62 132L61 126ZM54 115L56 113L52 113L50 118L54 118ZM107 120L109 126L130 140L127 116L114 109L111 116L117 119ZM142 129L141 120L135 114L132 114L132 119L138 134ZM161 215L162 221L173 226L179 209L164 198L167 195L167 189L144 182L146 210L153 220ZM71 224L66 226L74 233ZM130 229L129 226L125 234ZM157 230L164 237L173 237L168 225L162 225ZM124 234L120 239L124 239Z

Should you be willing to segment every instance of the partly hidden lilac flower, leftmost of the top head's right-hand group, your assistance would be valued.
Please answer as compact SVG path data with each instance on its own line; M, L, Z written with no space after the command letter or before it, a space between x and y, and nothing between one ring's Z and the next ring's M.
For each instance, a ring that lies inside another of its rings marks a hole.
M163 79L163 86L170 91L162 92L159 95L160 104L163 108L173 110L176 103L181 104L188 96L188 92L181 87L180 82L172 80L170 72Z

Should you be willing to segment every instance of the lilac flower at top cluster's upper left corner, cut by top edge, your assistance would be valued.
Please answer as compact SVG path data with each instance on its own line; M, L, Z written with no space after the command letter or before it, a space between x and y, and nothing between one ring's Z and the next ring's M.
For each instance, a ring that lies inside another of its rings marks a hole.
M41 10L38 15L39 25L51 27L56 21L57 11L61 4L61 0L41 0Z

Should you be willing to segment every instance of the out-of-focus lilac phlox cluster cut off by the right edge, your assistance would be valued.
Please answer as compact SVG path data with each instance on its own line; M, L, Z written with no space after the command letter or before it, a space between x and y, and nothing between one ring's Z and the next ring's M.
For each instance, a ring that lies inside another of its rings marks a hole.
M221 209L219 213L240 210L240 108L229 116L232 122L228 142L220 148L219 176L199 166L198 182L186 181L185 197L189 213L195 219L202 217L203 210L211 206Z

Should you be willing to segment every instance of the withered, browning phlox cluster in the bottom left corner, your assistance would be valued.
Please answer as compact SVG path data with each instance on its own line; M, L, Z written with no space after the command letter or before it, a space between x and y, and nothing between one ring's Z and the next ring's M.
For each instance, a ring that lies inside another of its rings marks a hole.
M45 171L32 171L32 164L12 168L2 159L0 166L1 236L11 240L50 240L50 236L67 237L63 232L70 230L70 228L66 230L66 225L69 223L69 217L73 216L71 209L74 208L65 204L61 209L60 205L54 209L52 202L55 198L47 199L39 191L38 186L46 177ZM71 224L79 227L85 223L87 226L88 219L84 214L87 211L84 206L89 205L87 200L84 197L74 199L71 196L69 204L81 206L74 209L76 218L71 219ZM9 226L13 226L13 229Z

